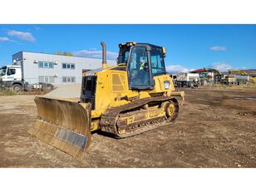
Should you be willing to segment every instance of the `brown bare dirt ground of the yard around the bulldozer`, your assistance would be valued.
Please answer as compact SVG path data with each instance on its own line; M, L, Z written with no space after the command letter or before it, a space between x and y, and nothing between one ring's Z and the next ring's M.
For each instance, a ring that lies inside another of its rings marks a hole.
M256 167L256 88L185 89L170 126L116 140L93 134L74 160L27 133L34 96L0 96L0 167Z

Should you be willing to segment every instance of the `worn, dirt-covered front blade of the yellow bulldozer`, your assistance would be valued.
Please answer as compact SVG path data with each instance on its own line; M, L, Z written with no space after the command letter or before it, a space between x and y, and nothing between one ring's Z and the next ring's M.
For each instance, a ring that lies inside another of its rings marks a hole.
M28 130L37 139L82 160L91 142L91 106L37 96L37 121Z

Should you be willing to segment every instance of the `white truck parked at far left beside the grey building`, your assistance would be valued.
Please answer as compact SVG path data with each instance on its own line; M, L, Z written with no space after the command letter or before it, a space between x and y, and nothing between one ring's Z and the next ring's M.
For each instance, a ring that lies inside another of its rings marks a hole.
M18 65L2 66L0 68L0 88L11 88L13 91L52 90L50 83L38 82L28 84L22 79L22 67Z

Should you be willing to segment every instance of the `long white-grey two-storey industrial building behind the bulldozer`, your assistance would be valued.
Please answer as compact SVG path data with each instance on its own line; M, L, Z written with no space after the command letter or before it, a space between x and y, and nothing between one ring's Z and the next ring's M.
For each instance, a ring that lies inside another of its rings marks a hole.
M101 67L101 59L87 57L71 57L38 52L17 52L12 61L22 66L22 79L29 84L38 82L63 85L81 83L82 70ZM116 61L107 60L108 65L116 65Z

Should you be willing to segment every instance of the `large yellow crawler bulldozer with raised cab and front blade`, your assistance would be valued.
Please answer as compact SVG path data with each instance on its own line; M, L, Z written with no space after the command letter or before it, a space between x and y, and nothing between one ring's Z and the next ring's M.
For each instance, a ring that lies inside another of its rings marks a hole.
M82 73L80 101L37 96L37 121L29 133L78 160L84 158L96 130L126 138L175 121L185 93L175 91L165 71L165 47L119 44L116 66Z

